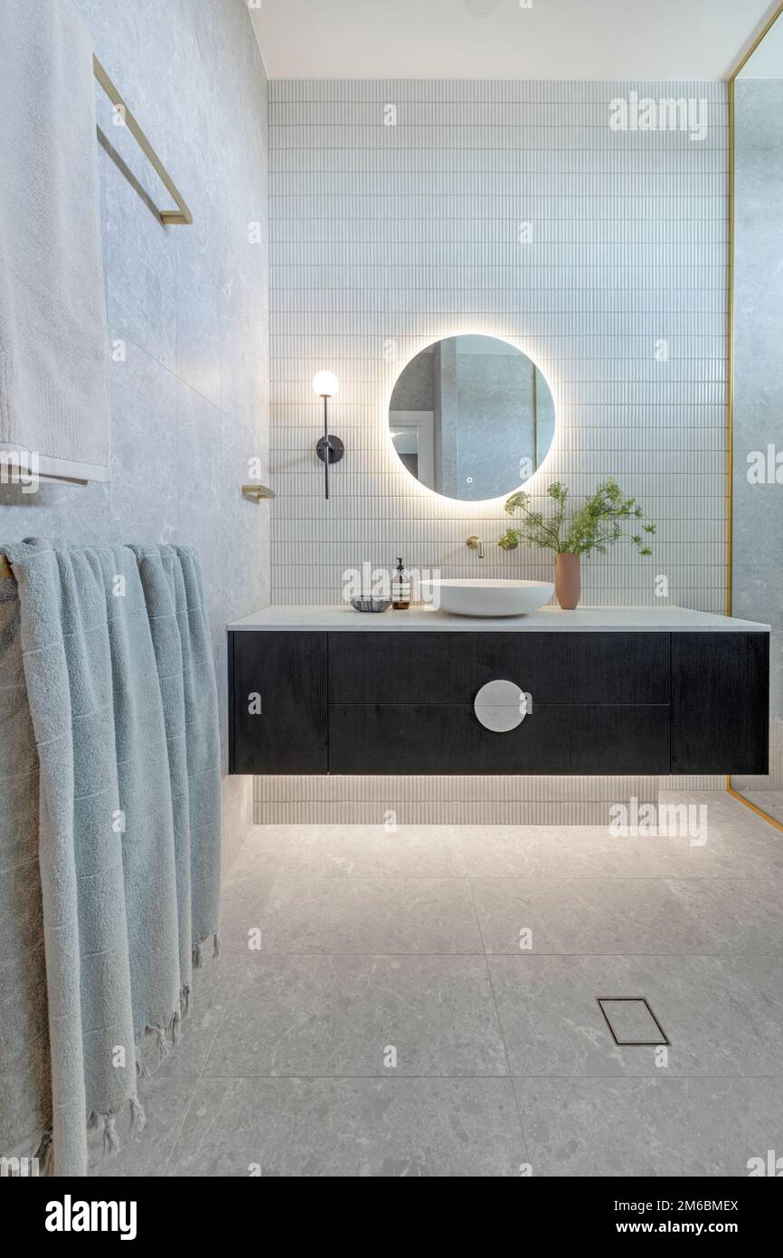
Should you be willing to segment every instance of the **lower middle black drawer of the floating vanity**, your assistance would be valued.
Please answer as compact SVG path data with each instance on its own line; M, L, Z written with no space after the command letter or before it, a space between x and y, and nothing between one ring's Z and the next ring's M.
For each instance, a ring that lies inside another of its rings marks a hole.
M538 704L493 733L473 704L332 703L332 774L667 774L666 704Z

